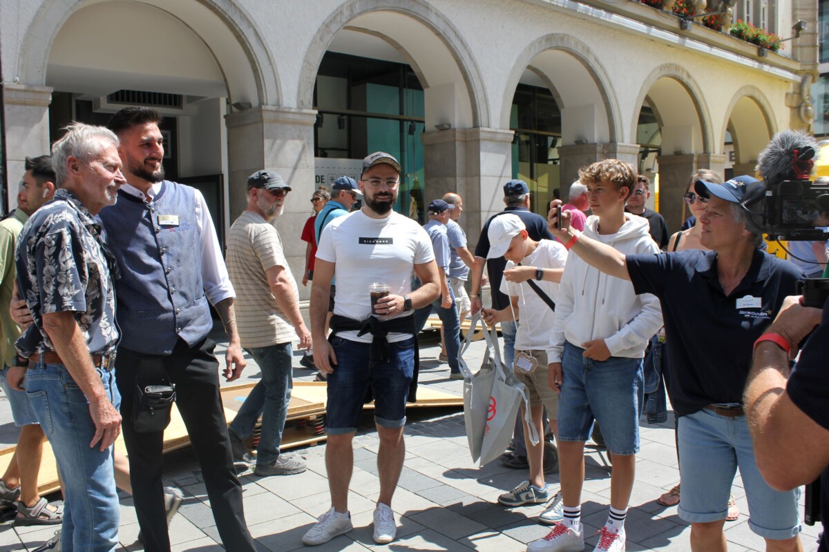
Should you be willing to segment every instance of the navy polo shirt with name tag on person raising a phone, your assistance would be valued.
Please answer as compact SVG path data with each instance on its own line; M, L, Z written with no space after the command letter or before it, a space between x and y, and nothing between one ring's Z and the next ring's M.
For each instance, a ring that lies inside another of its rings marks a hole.
M628 255L637 294L662 303L668 344L668 396L676 414L743 402L754 341L795 295L802 272L791 262L754 250L749 271L730 293L717 278L717 254L682 251Z

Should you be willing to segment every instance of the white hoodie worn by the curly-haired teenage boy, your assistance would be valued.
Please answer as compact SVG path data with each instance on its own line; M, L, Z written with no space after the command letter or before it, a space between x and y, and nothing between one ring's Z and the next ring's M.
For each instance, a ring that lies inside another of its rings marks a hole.
M625 255L659 253L647 218L625 213L622 228L604 236L598 227L599 217L589 217L584 235ZM630 281L608 276L570 252L555 300L547 358L561 362L565 340L581 347L594 339L604 339L613 357L642 358L647 341L661 327L662 310L655 295L636 295Z

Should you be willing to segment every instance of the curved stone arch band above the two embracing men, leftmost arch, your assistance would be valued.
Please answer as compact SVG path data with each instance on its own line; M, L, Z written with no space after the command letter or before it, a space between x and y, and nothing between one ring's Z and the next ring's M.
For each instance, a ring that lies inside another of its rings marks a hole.
M61 0L43 2L22 41L19 63L21 82L33 86L46 84L49 56L61 27L76 12L101 3L107 2L87 0L75 5ZM134 3L157 7L182 22L204 42L216 64L221 67L231 102L251 105L281 102L276 64L256 26L235 2L142 0ZM240 59L250 63L239 63Z

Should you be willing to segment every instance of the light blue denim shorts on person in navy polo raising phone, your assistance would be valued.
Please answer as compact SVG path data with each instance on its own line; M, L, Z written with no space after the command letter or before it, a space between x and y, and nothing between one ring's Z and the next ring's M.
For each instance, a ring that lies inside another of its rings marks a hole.
M604 432L604 427L602 428ZM768 487L757 469L745 416L727 418L698 410L679 419L682 500L679 516L692 523L724 520L734 473L739 468L749 502L749 527L765 539L786 540L800 532L800 490Z

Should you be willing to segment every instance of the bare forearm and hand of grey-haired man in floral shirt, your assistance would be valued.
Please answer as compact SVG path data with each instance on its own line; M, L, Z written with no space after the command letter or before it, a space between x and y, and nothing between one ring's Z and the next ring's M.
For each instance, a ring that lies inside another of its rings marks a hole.
M75 321L75 314L69 311L43 314L43 329L66 370L90 401L90 417L95 424L90 448L100 443L99 450L107 449L121 432L121 415L109 401L104 384L92 364L90 349Z

